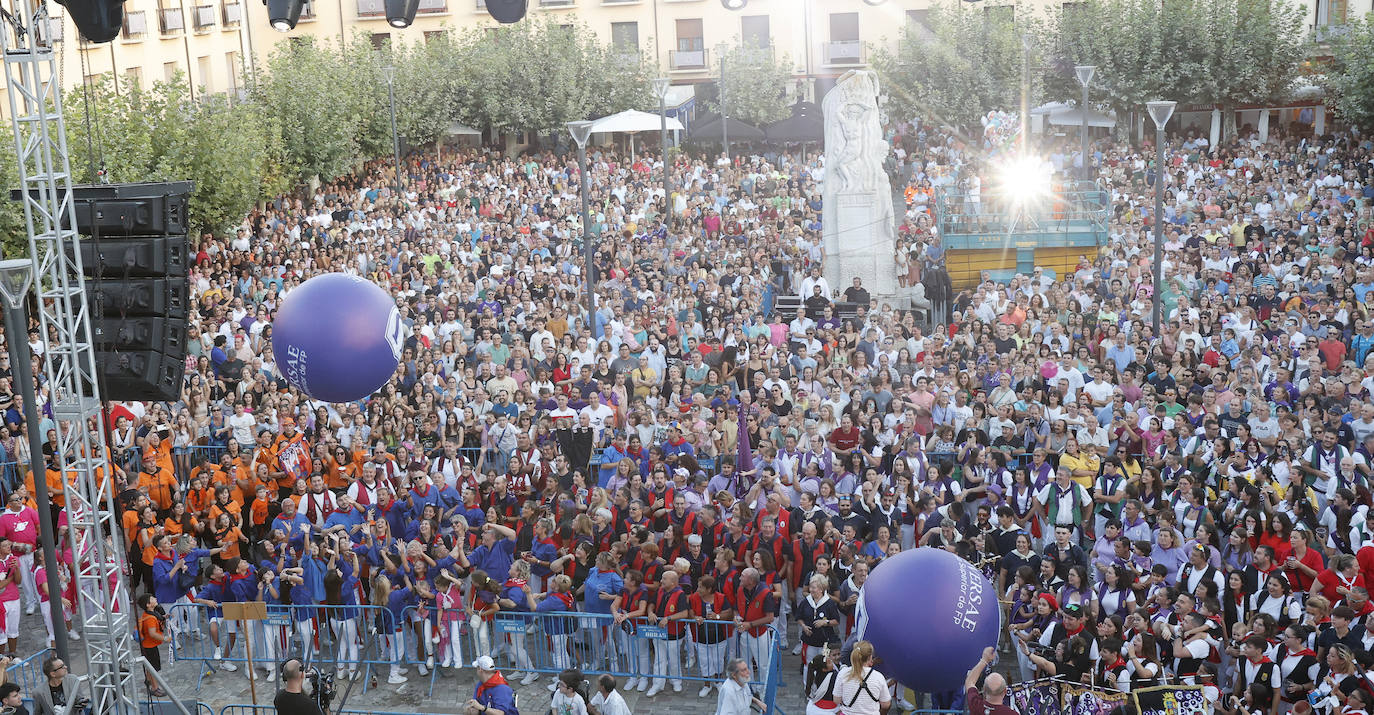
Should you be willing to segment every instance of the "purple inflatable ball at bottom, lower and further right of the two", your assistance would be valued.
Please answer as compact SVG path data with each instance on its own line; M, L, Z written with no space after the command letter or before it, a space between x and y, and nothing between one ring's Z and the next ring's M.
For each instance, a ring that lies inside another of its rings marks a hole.
M996 588L943 549L885 560L855 608L855 637L872 644L878 670L923 693L960 689L982 649L998 645L1000 627Z

